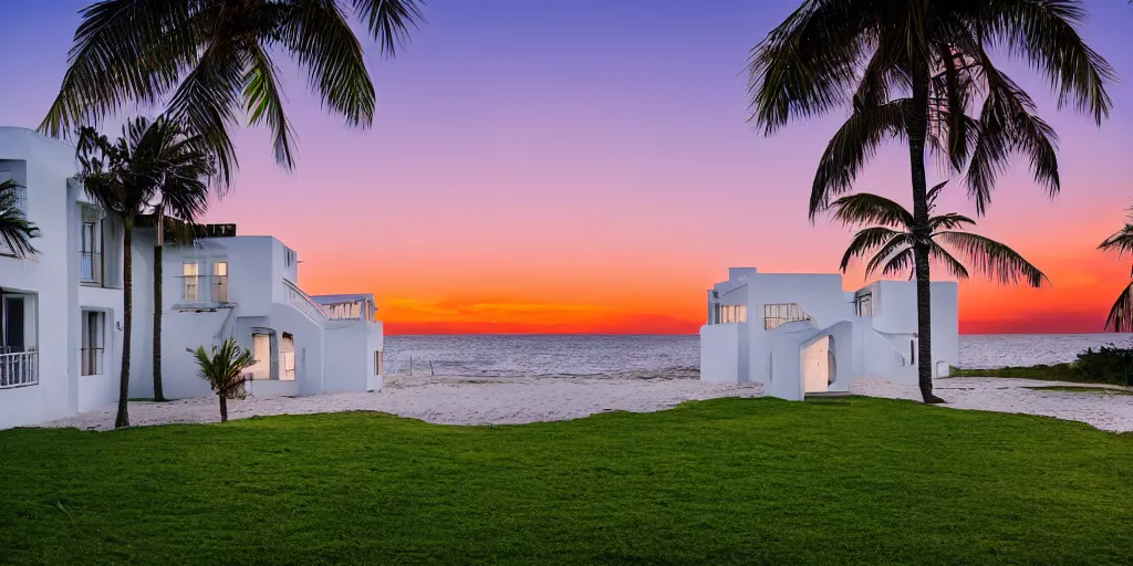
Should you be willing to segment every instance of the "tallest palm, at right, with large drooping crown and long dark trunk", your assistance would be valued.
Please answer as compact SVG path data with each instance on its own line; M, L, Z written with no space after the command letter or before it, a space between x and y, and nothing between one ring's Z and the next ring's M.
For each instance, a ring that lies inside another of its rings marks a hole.
M1059 105L1073 103L1100 125L1109 113L1106 83L1114 72L1077 34L1084 16L1081 0L806 0L752 51L751 119L765 135L793 119L850 110L819 161L812 221L852 188L883 140L908 142L918 374L926 402L936 398L926 154L943 168L966 169L978 215L1016 153L1030 161L1036 182L1056 195L1057 136L988 52L1022 57L1051 83ZM978 117L969 115L977 109Z

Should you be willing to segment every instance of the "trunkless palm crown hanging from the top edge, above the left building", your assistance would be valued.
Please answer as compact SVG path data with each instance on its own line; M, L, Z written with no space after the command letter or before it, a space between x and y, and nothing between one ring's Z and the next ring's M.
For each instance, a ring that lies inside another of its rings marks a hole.
M394 55L420 20L424 0L99 0L82 11L69 67L40 131L59 137L130 103L169 104L204 136L224 181L237 166L229 127L266 123L279 163L293 166L276 53L290 55L323 104L350 126L374 119L374 85L352 11Z

